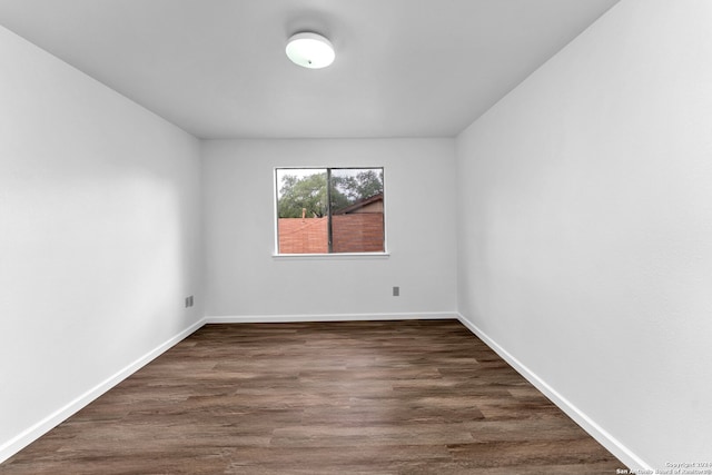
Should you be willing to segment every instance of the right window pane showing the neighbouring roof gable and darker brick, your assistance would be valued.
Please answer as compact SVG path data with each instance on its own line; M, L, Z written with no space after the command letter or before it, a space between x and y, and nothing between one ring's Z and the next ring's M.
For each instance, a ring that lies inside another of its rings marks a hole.
M332 251L382 253L383 168L330 170Z

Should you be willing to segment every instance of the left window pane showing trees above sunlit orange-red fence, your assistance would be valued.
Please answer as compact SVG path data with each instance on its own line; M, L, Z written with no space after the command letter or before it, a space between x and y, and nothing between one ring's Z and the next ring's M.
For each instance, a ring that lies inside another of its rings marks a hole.
M326 254L328 209L326 169L277 170L279 254Z

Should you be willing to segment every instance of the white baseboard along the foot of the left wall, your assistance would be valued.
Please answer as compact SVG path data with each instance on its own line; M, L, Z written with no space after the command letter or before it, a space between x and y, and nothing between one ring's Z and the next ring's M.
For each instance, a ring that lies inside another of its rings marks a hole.
M160 356L167 349L169 349L170 347L176 345L178 342L186 338L188 335L192 334L204 325L205 325L205 319L200 319L199 321L196 321L185 330L180 331L178 335L169 338L167 342L162 343L161 345L157 346L152 350L148 352L146 355L141 356L130 365L126 366L125 368L120 369L116 374L111 375L110 377L99 383L97 386L87 390L86 393L83 393L82 395L80 395L79 397L77 397L69 404L67 404L66 406L60 407L52 414L39 420L37 424L28 427L27 429L24 429L23 432L21 432L20 434L11 438L10 441L0 445L0 464L7 461L8 458L10 458L11 456L13 456L14 454L17 454L18 452L20 452L22 448L30 445L32 442L37 441L42 435L47 434L49 431L51 431L52 428L61 424L63 420L68 419L71 415L79 412L79 409L83 408L89 403L95 400L97 397L101 396L103 393L111 389L113 386L121 383L127 377L131 376L141 367L146 366L148 363L150 363L151 360Z

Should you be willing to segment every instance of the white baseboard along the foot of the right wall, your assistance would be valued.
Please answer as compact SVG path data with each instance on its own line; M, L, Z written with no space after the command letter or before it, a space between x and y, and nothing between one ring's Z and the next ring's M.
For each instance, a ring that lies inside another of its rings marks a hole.
M571 417L576 424L578 424L584 431L586 431L593 438L595 438L601 445L603 445L609 452L615 455L621 462L623 462L629 468L641 472L653 473L651 465L643 462L641 457L635 455L633 451L629 449L619 439L613 437L601 427L595 420L589 417L585 413L574 406L568 399L561 395L556 389L550 386L544 379L532 372L522 362L515 358L510 352L504 349L497 342L492 339L490 335L484 333L477 325L469 321L462 314L457 314L458 320L467 327L473 334L482 339L490 348L492 348L497 355L507 362L517 373L520 373L526 380L532 383L538 390L541 390L552 403L554 403L560 409L562 409L568 417Z

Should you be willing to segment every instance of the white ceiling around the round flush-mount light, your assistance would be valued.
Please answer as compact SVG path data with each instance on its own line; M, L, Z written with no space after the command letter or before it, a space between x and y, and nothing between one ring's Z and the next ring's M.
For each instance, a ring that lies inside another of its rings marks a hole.
M200 138L451 137L617 0L0 0L0 24ZM334 43L308 70L291 33Z

